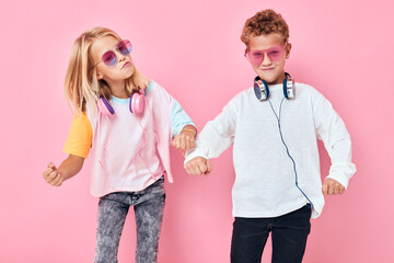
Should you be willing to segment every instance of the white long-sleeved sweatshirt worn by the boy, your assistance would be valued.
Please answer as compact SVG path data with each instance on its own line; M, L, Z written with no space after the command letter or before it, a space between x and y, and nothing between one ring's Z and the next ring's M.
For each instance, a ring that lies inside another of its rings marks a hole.
M269 91L279 117L282 84L269 85ZM312 218L316 218L324 206L316 138L323 140L332 160L328 178L347 187L356 172L349 134L331 103L302 83L296 83L296 99L283 100L280 126L296 162L298 185L313 203ZM293 163L280 139L277 117L268 101L256 99L253 88L240 92L207 123L185 163L195 157L217 158L232 144L234 217L277 217L309 203L296 186Z

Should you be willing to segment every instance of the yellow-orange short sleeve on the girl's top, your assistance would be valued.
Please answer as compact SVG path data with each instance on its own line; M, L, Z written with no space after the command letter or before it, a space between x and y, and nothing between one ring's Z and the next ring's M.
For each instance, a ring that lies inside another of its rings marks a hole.
M76 114L69 135L66 140L63 152L86 158L92 147L93 129L85 113Z

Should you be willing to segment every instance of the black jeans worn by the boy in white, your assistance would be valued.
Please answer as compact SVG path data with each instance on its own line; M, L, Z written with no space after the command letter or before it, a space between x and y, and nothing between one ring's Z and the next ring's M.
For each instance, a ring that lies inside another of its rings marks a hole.
M311 231L311 209L304 206L271 218L235 217L231 241L231 263L260 263L269 232L273 263L301 262Z

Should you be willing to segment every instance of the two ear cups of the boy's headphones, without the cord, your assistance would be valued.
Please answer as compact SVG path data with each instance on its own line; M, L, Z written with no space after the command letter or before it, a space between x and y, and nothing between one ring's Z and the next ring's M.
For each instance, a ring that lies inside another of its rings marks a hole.
M283 79L283 95L290 100L296 96L294 80L288 72L285 72ZM254 79L254 91L259 101L267 101L269 98L269 88L265 80L262 80L258 76Z

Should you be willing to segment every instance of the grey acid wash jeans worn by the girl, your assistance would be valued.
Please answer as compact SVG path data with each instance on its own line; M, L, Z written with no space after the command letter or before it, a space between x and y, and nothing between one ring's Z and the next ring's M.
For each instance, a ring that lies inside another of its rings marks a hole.
M94 262L117 262L120 235L130 206L134 206L137 225L136 263L158 262L164 204L164 176L139 192L116 192L101 197Z

